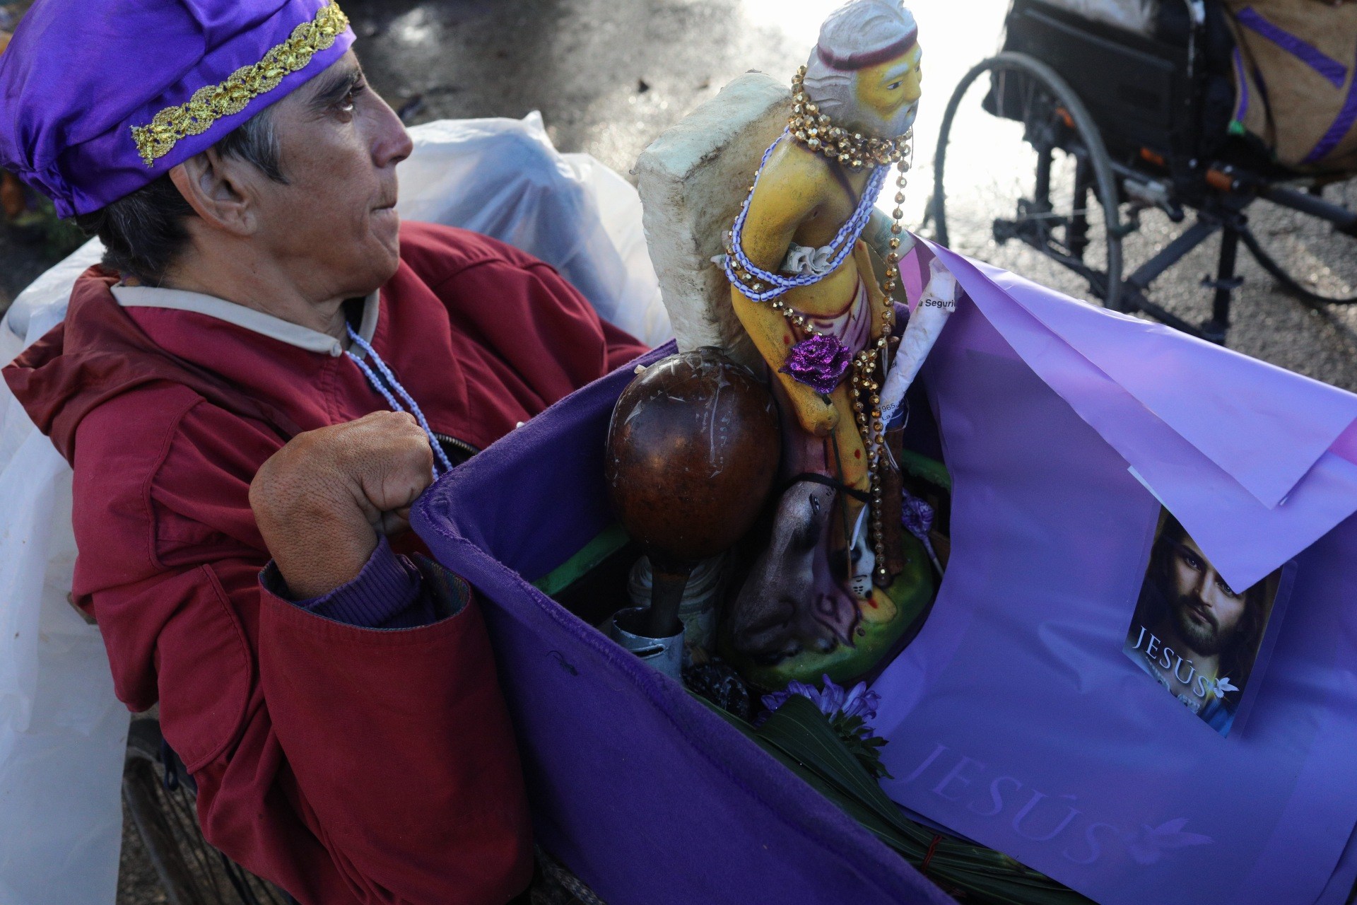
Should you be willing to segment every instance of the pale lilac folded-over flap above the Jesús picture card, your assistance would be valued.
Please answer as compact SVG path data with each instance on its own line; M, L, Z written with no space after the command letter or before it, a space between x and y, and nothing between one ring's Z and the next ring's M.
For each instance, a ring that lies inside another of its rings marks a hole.
M1232 586L1253 585L1357 512L1357 465L1339 444L1357 396L940 254L1006 343Z

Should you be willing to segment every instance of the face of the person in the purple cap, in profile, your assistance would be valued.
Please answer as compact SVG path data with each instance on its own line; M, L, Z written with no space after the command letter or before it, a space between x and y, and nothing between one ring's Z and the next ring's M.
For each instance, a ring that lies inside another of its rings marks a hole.
M399 265L396 164L411 141L353 50L280 100L286 185L256 195L256 239L316 299L362 296Z

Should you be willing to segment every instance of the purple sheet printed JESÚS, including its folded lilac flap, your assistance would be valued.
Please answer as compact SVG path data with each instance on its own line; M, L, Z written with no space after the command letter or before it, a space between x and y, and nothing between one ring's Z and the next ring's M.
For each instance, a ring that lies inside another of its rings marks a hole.
M924 372L953 548L874 685L886 791L1107 905L1334 894L1357 821L1352 398L936 254L972 303ZM1228 738L1121 653L1156 495L1235 586L1297 559Z

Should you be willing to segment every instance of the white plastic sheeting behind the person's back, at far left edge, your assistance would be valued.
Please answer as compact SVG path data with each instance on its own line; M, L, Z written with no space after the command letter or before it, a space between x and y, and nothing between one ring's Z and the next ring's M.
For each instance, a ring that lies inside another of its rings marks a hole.
M92 242L23 293L0 360L65 315ZM128 711L99 630L66 601L71 468L0 383L0 905L113 902Z

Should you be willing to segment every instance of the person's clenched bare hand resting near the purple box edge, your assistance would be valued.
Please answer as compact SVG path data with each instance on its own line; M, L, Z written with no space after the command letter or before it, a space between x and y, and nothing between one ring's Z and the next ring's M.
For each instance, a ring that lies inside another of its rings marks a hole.
M379 411L297 434L250 484L263 543L300 600L353 581L380 535L410 526L433 483L429 437L404 412Z

